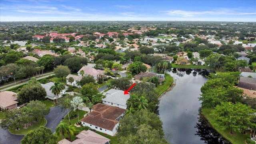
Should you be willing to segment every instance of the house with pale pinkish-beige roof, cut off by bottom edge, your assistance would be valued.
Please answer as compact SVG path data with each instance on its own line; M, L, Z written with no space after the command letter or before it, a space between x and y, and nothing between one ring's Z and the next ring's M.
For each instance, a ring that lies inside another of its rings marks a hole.
M76 138L77 139L73 142L70 142L64 138L60 140L58 144L110 144L110 139L105 138L104 136L91 130L83 130L78 135L76 135Z

